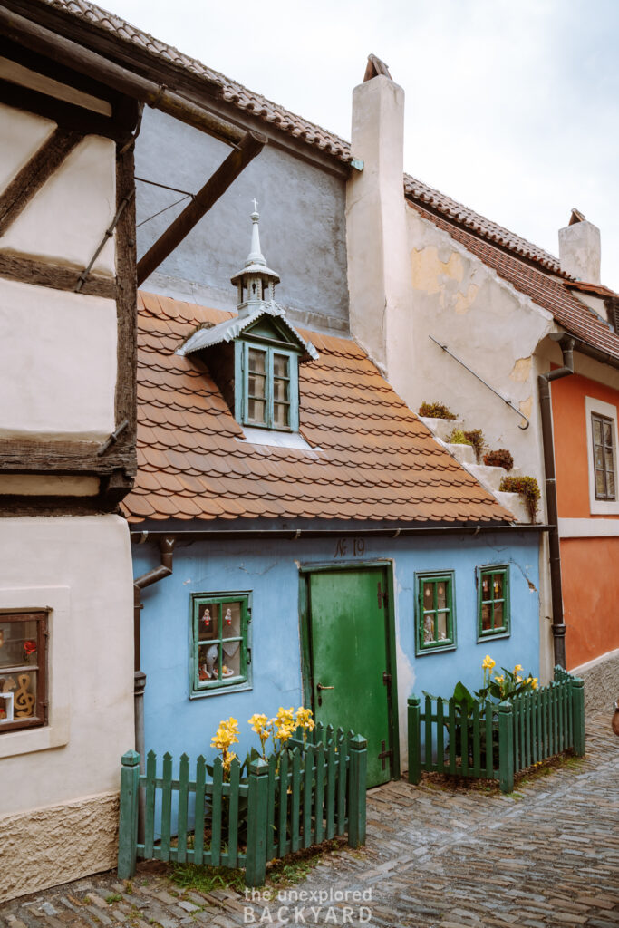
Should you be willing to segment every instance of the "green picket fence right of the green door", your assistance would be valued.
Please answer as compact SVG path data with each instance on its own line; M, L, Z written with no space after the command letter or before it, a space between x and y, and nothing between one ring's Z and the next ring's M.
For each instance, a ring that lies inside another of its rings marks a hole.
M458 702L426 696L408 700L408 781L421 770L498 780L513 790L514 774L572 750L585 754L583 681L555 667L554 682L511 700L475 702L463 718Z

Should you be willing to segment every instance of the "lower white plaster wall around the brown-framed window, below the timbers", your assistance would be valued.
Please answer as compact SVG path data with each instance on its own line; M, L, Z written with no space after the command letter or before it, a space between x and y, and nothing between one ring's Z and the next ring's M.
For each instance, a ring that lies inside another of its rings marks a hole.
M51 674L67 677L68 741L51 750L45 741L32 741L32 750L23 753L22 742L44 729L0 734L0 816L118 791L120 758L134 743L133 581L126 522L113 515L0 520L0 563L2 609L17 598L20 608L26 599L32 599L32 608L45 608L49 587L57 586L68 589L70 604L69 641L50 667ZM53 691L52 685L52 699ZM53 713L50 702L52 718ZM25 857L28 841L25 833Z

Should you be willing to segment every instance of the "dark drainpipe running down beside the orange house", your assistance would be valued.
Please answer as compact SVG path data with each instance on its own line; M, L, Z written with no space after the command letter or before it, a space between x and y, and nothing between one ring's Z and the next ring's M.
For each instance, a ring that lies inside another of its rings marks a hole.
M550 380L559 380L574 374L574 339L563 333L553 333L550 338L561 345L563 367L540 374L539 405L542 418L542 444L544 447L544 470L546 473L546 504L548 508L548 547L550 549L550 597L552 599L552 637L554 639L555 664L565 666L565 623L563 621L563 598L561 593L561 545L559 541L559 512L557 507L557 480L555 477L555 454L552 438L552 404Z

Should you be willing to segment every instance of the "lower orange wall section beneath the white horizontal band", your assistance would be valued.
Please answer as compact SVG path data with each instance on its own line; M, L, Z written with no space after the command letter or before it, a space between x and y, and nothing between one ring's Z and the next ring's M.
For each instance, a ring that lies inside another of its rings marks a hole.
M568 669L619 648L619 537L561 539Z

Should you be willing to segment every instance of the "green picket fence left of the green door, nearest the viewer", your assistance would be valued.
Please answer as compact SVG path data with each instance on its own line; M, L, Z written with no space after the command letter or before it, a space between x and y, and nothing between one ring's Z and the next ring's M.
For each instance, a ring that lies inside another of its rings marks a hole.
M221 757L215 759L210 778L200 755L190 779L189 758L182 754L178 779L174 779L171 754L163 754L161 776L152 751L145 774L139 772L139 754L124 754L119 878L133 876L139 858L245 868L247 885L261 886L266 861L274 857L285 857L336 835L347 834L353 847L365 844L365 739L342 728L316 726L307 744L303 736L288 743L290 750L279 755L278 768L275 756L266 761L259 758L244 780L240 779L239 760L232 761L229 780L224 781ZM146 794L143 841L138 841L137 833L140 789ZM195 827L189 826L190 818ZM206 838L205 821L210 825Z

